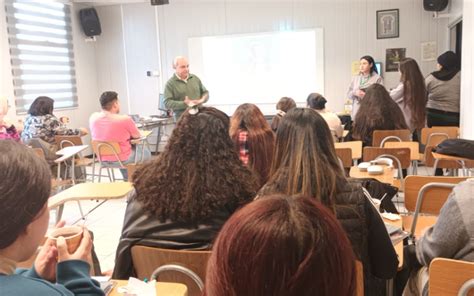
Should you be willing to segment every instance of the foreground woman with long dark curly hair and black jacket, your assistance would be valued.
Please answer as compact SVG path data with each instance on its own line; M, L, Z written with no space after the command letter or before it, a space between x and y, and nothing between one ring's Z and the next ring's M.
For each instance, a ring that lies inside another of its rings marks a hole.
M197 111L197 113L196 113ZM131 247L204 250L232 213L255 196L257 182L229 137L229 118L194 107L181 116L165 151L136 171L113 278L135 272Z

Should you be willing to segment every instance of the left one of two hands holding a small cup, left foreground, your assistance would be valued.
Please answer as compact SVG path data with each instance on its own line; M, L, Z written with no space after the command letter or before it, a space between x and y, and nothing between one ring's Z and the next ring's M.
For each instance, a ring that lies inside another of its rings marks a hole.
M56 228L64 227L65 221L56 224ZM35 259L35 270L38 275L52 283L56 282L56 265L58 250L54 240L47 239Z

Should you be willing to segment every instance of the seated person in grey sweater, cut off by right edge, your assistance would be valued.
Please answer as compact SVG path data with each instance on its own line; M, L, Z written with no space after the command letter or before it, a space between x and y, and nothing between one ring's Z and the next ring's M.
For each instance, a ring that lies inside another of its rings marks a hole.
M422 268L405 287L404 295L428 295L428 267L436 257L474 262L474 179L459 183L441 208L435 225L416 240Z

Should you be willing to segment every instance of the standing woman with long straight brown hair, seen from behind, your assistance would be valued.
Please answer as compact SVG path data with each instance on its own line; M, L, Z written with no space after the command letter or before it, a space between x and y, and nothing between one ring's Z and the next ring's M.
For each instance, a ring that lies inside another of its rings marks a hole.
M390 91L390 97L402 110L408 128L417 139L426 122L427 92L423 74L412 58L402 59L398 69L400 83Z

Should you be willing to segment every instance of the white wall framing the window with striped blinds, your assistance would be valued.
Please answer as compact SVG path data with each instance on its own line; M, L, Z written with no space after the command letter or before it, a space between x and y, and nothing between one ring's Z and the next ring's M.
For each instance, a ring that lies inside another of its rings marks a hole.
M12 108L9 111L11 119L22 119L25 115L17 115L14 104L13 82L11 77L10 54L5 20L4 1L0 1L0 96L6 96L10 100ZM74 42L74 57L76 60L76 81L79 107L69 110L57 111L56 116L69 116L71 127L88 127L89 115L98 110L99 93L97 90L97 75L95 69L94 44L86 43L85 36L79 25L78 9L74 6L72 11L72 28ZM54 98L53 98L54 99ZM85 138L88 141L88 138Z

